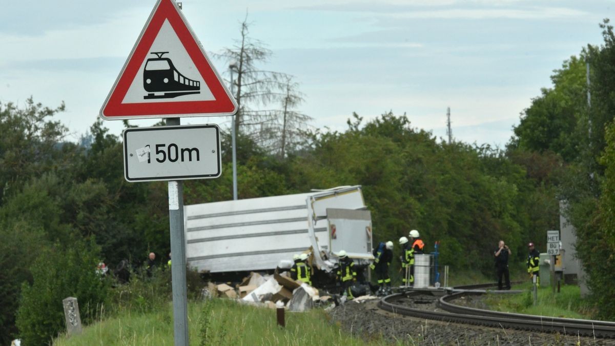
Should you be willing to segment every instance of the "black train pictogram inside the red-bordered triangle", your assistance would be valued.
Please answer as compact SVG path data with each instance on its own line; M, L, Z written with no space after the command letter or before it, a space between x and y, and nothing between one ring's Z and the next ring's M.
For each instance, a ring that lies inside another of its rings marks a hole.
M162 55L169 52L151 52L143 69L143 88L148 92L143 99L171 99L181 95L199 94L200 82L186 78L173 65L170 58ZM154 94L163 93L163 94Z

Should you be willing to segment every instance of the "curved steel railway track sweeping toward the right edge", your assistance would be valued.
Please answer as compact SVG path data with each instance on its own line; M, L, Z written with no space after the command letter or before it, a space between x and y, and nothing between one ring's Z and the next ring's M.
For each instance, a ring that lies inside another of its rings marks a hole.
M493 284L472 285L458 287L459 289L488 288ZM426 318L454 323L474 324L494 328L509 328L523 331L538 331L547 333L560 333L566 335L579 335L600 338L615 338L615 323L591 320L574 320L571 318L554 318L520 313L494 312L478 308L462 307L452 304L451 301L464 295L480 295L478 292L458 292L440 297L436 305L437 310L431 311L395 304L395 302L411 297L418 297L425 292L399 293L384 297L378 307L392 313Z

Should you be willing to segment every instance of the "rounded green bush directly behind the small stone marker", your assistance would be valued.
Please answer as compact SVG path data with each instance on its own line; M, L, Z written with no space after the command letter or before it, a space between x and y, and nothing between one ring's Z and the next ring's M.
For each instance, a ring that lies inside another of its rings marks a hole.
M77 298L82 323L95 320L108 290L106 280L95 272L98 256L93 241L42 250L31 268L33 283L22 285L16 324L23 344L48 344L65 330L66 297Z

